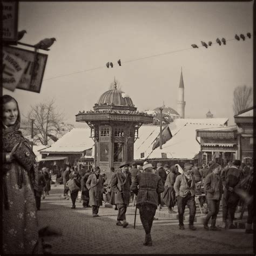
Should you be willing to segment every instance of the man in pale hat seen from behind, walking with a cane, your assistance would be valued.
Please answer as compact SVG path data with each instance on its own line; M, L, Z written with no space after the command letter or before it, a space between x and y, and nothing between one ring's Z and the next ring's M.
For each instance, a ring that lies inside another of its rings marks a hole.
M152 164L144 164L143 170L144 172L134 179L131 190L137 195L140 220L146 233L143 245L152 246L150 232L157 210L158 194L164 192L164 184L161 178L152 172Z

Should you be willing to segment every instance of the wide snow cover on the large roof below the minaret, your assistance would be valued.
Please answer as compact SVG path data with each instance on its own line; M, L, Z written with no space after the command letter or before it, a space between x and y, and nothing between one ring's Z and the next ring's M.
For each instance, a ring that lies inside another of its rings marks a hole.
M175 119L169 125L173 137L163 145L163 149L157 147L146 158L162 158L161 153L166 153L169 159L193 159L200 151L196 130L224 125L227 120L228 118Z

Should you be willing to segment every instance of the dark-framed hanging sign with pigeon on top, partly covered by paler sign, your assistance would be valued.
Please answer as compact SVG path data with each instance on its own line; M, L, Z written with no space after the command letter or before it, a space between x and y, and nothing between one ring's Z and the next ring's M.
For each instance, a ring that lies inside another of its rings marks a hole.
M12 46L4 46L3 50L26 62L25 70L16 88L39 93L48 55Z

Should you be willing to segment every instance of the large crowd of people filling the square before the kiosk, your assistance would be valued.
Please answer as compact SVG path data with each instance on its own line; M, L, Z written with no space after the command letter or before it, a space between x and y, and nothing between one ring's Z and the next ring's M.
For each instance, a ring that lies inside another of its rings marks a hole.
M169 213L177 213L178 208L179 228L184 230L185 207L189 209L188 228L196 231L194 218L196 215L196 196L200 197L200 205L206 205L204 221L205 230L220 231L221 228L236 228L233 224L235 211L241 210L245 204L248 207L248 219L246 233L253 233L253 167L250 164L241 164L240 160L229 162L221 167L215 161L208 165L185 163L183 168L175 164L156 167L145 163L143 166L133 163L122 163L118 170L111 167L109 177L105 173L100 174L97 166L92 170L81 169L79 172L70 172L70 166L66 167L63 174L64 196L70 190L72 207L75 208L78 191L82 191L81 200L83 207L92 207L93 217L99 217L99 207L102 201L115 205L117 210L117 226L127 227L126 210L129 203L134 203L139 209L140 219L145 229L146 237L144 245L152 245L151 226L156 214L156 209L166 205ZM76 180L76 187L69 186L69 180ZM243 184L243 185L242 185ZM69 187L68 187L69 186ZM73 189L76 192L73 192ZM74 196L72 196L72 194ZM223 205L223 223L216 226L220 201ZM245 203L246 202L246 203ZM210 227L208 223L211 220Z

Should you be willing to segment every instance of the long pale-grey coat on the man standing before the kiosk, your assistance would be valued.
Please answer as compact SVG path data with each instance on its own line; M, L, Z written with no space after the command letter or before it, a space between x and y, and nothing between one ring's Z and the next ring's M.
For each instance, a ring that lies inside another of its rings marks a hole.
M99 179L97 181L96 174L93 172L86 181L86 187L89 190L90 205L102 205L102 193L103 193L104 179L102 175L99 174Z

